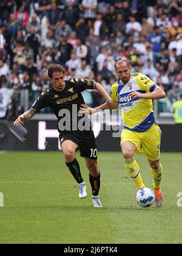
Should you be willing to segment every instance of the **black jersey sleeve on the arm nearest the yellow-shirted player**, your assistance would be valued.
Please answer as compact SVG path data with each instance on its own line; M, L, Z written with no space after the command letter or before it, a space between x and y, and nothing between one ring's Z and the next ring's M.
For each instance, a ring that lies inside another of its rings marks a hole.
M95 90L96 82L93 80L87 80L83 78L74 78L70 79L70 82L75 85L78 91L84 91L84 90Z

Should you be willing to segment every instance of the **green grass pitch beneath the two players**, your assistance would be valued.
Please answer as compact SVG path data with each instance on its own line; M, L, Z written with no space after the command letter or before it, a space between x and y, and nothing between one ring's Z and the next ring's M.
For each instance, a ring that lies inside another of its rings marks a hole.
M78 185L61 152L0 153L0 243L181 243L182 154L162 154L162 208L136 204L136 188L120 152L99 152L101 202L93 208L84 158L76 156L88 197L78 198ZM149 166L136 157L143 180L152 188Z

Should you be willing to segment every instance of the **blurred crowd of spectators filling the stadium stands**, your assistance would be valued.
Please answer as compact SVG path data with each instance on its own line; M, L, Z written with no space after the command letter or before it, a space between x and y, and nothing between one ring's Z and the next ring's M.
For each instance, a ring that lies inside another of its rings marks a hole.
M130 59L166 91L159 112L182 94L181 0L1 0L0 34L0 110L7 94L8 118L23 111L17 92L28 90L31 105L49 87L52 62L66 66L66 79L95 79L110 93L115 61ZM92 91L84 98L103 102Z

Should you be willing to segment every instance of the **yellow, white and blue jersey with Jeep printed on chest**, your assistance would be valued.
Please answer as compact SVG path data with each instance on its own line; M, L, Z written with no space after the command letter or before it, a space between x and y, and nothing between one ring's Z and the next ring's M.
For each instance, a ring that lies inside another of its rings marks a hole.
M118 79L112 85L112 100L120 104L124 129L146 132L156 123L152 99L132 99L129 94L133 91L152 93L157 87L155 82L141 73L133 73L127 84Z

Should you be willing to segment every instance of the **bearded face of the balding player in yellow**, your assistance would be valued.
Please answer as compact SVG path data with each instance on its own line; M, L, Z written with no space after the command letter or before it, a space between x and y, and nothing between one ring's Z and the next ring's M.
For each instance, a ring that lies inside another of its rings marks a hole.
M127 63L116 64L116 74L121 79L123 84L126 84L130 80L131 66L127 66Z

